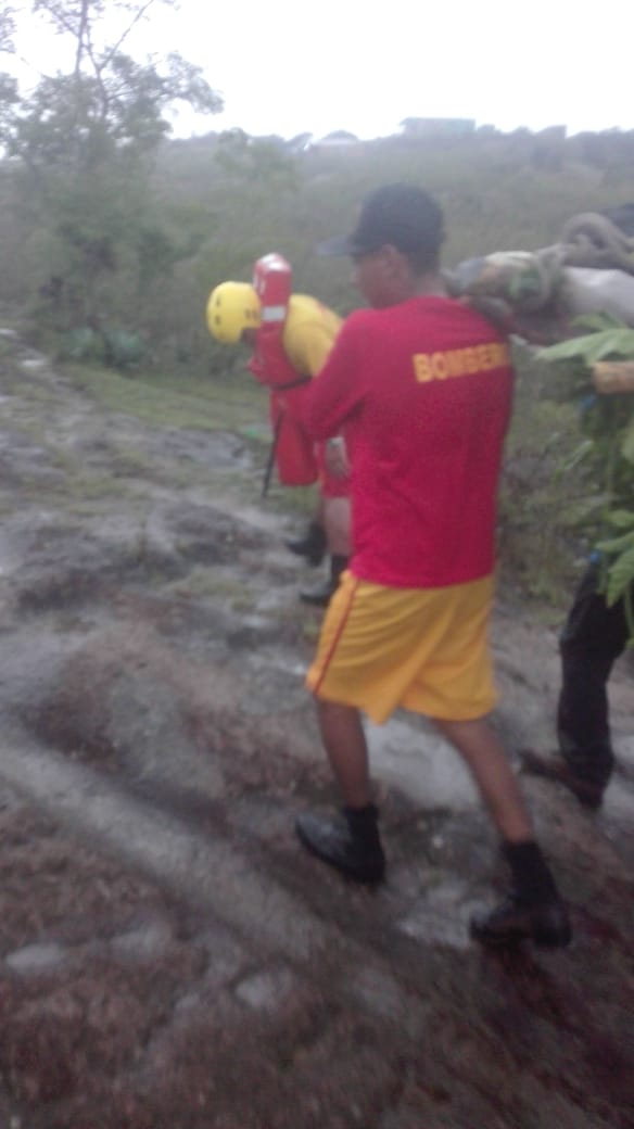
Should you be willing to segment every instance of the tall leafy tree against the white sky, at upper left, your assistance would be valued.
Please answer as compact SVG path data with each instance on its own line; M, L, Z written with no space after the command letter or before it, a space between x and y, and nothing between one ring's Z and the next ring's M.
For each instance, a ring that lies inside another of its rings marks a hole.
M130 317L135 288L148 285L148 231L156 233L150 173L170 129L167 110L178 100L199 113L222 108L201 69L180 55L139 60L124 50L159 3L176 7L175 0L32 6L67 46L69 65L43 77L0 128L8 152L23 163L23 207L37 234L35 282L59 329Z

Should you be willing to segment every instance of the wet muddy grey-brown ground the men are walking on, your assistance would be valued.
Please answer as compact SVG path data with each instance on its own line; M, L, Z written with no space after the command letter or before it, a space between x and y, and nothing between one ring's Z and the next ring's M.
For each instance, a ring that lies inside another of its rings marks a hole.
M8 331L0 408L1 1129L634 1124L632 666L600 814L526 784L572 947L482 953L505 876L422 720L370 730L385 886L298 849L315 575L245 441L105 415ZM505 596L494 647L548 747L555 634Z

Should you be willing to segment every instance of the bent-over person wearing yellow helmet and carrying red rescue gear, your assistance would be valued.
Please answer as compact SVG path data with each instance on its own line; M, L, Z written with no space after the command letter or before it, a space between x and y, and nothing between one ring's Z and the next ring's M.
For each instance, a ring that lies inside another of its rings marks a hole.
M280 279L274 281L280 288ZM343 440L333 437L315 444L303 429L302 413L306 390L328 356L341 318L309 295L278 297L285 300L271 304L264 288L261 298L248 282L222 282L209 297L206 324L217 341L241 341L254 350L248 368L270 391L275 462L282 484L318 482L319 502L308 532L287 541L287 545L311 564L320 563L328 550L326 584L300 593L306 603L324 606L350 555L349 467Z

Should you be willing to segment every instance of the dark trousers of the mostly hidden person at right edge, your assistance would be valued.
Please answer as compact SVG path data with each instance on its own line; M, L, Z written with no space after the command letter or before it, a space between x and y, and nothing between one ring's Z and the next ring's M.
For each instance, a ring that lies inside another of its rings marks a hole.
M608 679L628 638L623 601L608 607L591 564L575 592L560 638L562 689L557 707L560 749L573 772L606 785L614 767L608 719Z

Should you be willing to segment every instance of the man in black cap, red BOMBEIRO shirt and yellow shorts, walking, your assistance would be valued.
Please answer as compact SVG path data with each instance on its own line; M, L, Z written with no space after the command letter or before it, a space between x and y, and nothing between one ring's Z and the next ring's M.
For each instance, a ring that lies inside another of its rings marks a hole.
M305 847L360 882L384 876L361 711L430 717L468 764L501 834L512 891L472 920L488 944L570 940L566 909L536 843L504 750L486 723L495 702L487 624L502 447L511 410L505 340L447 297L442 215L410 184L364 202L347 254L370 309L343 325L307 395L315 439L345 437L353 555L307 674L341 786L341 821L300 815Z

